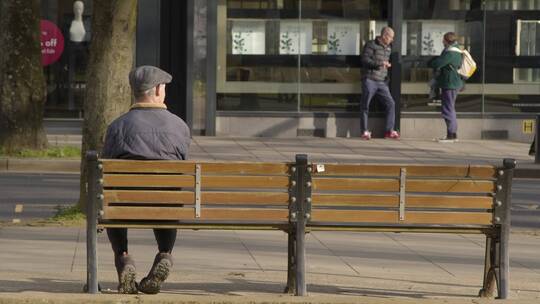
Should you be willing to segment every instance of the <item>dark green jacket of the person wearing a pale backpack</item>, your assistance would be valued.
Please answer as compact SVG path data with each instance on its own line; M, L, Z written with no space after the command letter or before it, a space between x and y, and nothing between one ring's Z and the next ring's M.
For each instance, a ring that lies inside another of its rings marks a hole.
M451 45L458 48L457 43ZM463 79L457 73L461 67L461 53L449 51L445 48L439 57L428 62L429 67L436 71L435 80L441 89L459 90L463 87Z

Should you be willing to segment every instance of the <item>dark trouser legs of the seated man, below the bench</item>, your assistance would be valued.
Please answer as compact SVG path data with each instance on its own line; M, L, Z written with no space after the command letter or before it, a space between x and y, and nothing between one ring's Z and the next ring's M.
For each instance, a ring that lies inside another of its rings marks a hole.
M128 252L127 228L107 228L107 236L115 256ZM159 252L171 253L176 241L176 229L154 229Z

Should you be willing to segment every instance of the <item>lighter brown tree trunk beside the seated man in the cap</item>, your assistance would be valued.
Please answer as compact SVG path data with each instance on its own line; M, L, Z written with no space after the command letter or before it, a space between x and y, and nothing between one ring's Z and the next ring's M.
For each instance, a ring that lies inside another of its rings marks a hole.
M128 111L137 0L95 0L82 139L79 207L86 210L86 151L103 148L107 126Z

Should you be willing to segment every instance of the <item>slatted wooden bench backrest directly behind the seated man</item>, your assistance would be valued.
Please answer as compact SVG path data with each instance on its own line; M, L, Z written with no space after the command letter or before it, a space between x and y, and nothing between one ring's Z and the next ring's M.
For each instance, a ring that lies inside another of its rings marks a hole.
M101 159L98 164L101 224L288 223L287 163Z

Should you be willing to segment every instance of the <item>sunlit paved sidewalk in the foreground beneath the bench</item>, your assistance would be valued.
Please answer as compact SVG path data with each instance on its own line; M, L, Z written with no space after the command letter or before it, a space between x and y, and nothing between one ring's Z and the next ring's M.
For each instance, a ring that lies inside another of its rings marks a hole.
M377 301L366 303L396 303L396 299L472 303L482 284L484 242L479 235L310 233L306 301L329 297L334 299L329 302L353 302L367 297ZM0 303L14 295L69 299L81 292L86 280L84 227L4 227L0 244ZM231 302L245 296L281 303L294 300L282 295L286 244L286 235L278 231L181 231L174 271L163 292L147 299L174 295L177 300L192 296L242 296L227 298ZM114 294L116 272L106 235L99 235L98 248L99 280L104 293ZM540 236L512 234L510 248L510 298L518 303L540 301ZM138 279L149 270L155 250L151 230L130 230Z

